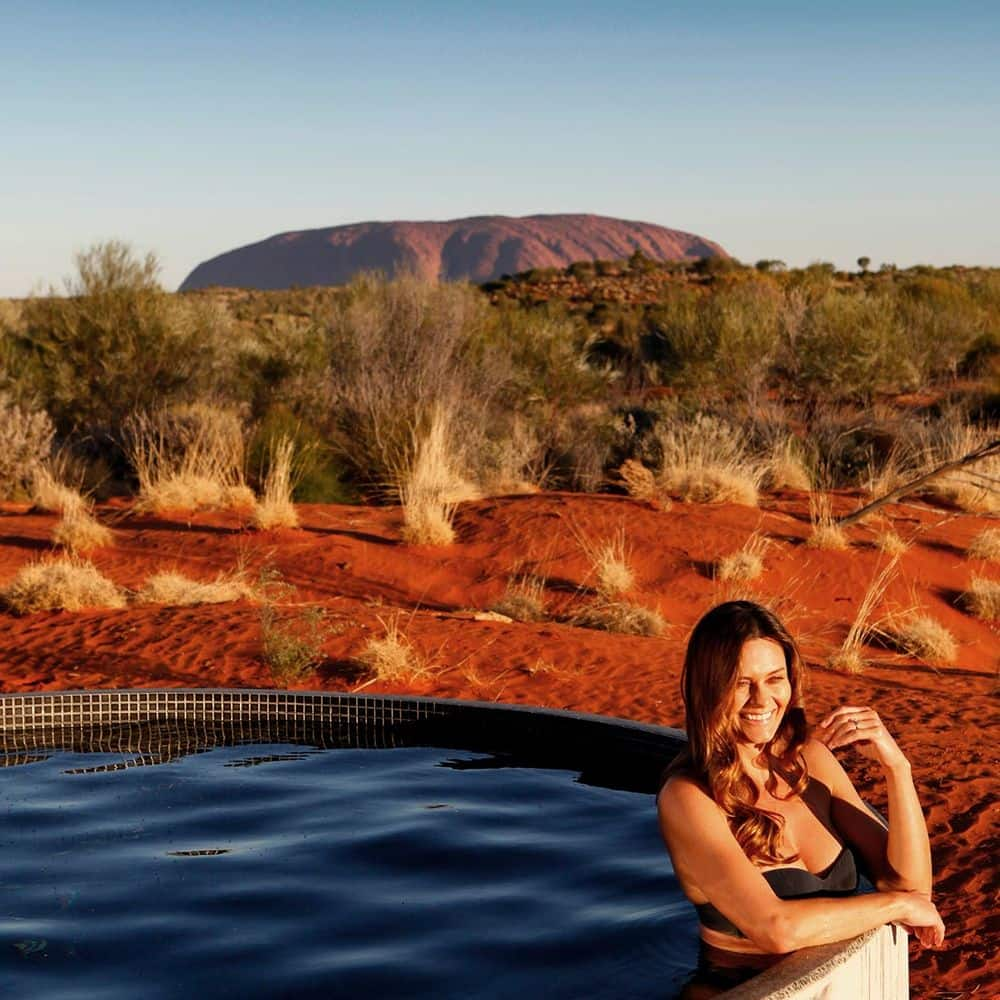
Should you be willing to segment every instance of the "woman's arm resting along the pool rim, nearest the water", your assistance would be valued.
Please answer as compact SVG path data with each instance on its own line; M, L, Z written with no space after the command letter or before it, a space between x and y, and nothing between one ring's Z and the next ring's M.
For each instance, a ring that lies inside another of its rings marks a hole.
M667 782L657 804L660 829L682 881L765 952L842 941L890 921L917 929L924 944L944 939L937 910L918 893L780 899L743 853L719 807L687 778Z

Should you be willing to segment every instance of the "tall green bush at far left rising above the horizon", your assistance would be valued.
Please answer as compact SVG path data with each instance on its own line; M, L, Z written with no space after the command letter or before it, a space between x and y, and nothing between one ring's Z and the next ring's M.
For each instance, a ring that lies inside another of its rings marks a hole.
M65 295L28 300L14 350L23 379L60 434L118 427L147 407L204 390L224 331L208 300L168 295L159 262L125 243L99 243L76 258Z

